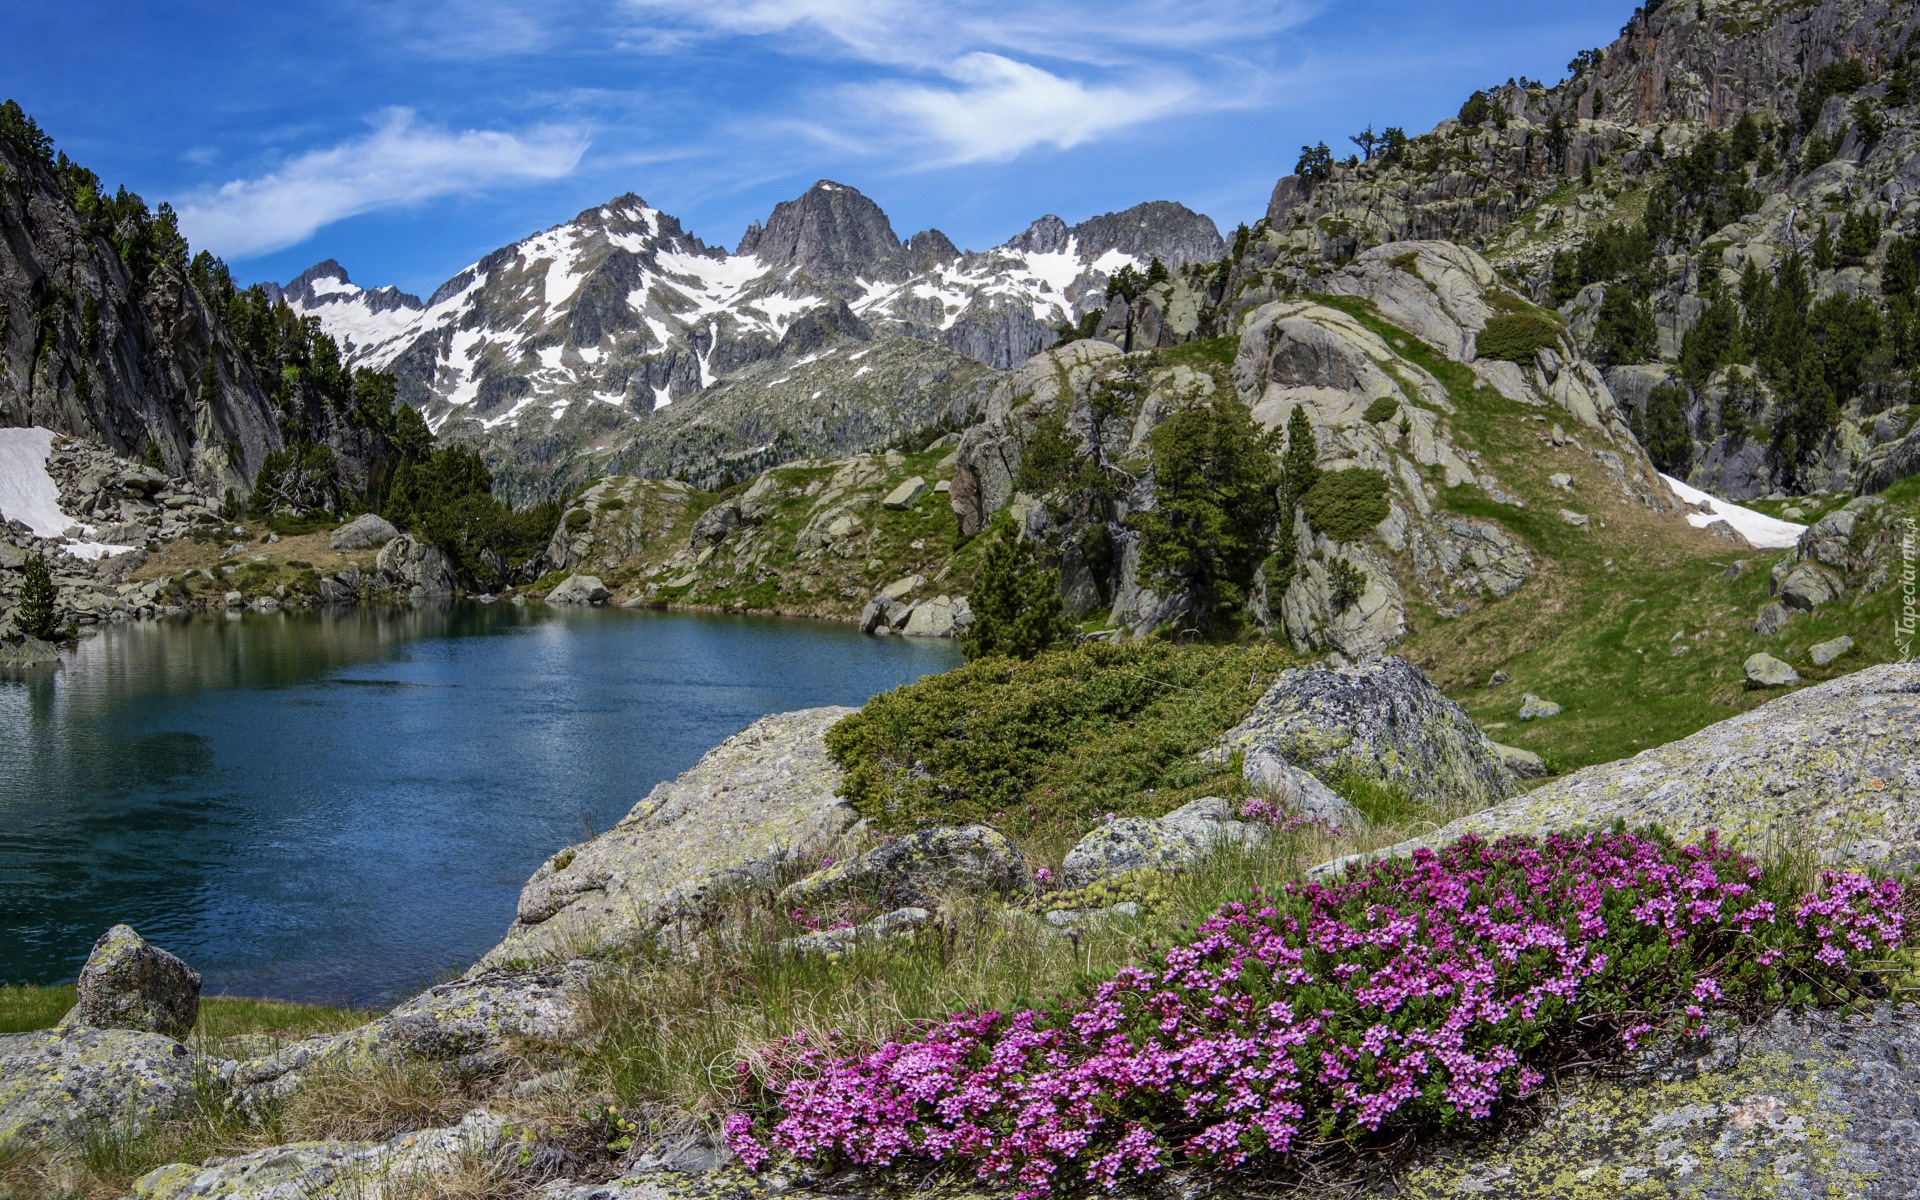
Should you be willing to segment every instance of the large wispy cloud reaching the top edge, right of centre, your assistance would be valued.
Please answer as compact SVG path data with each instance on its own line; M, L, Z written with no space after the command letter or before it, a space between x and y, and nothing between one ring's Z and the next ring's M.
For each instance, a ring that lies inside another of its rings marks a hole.
M1225 0L1204 12L1187 0L624 4L637 21L628 42L643 52L766 38L789 58L864 63L874 79L828 88L789 127L912 167L1006 161L1254 104L1273 73L1242 61L1244 46L1317 12L1309 0Z

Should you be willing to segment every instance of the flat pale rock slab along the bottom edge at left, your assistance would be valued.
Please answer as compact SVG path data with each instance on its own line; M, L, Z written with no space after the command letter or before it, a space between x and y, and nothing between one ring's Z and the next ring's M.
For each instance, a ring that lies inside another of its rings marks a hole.
M384 1142L294 1142L202 1164L173 1164L132 1185L132 1200L415 1200L472 1194L507 1171L507 1125L474 1110L459 1125ZM493 1192L484 1192L493 1194Z

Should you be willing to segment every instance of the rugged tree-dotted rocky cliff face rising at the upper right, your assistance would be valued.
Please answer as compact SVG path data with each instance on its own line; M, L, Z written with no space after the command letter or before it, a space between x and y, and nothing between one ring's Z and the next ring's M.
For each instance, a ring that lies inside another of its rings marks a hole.
M1450 238L1478 248L1532 300L1559 305L1588 351L1607 286L1567 296L1553 276L1555 255L1571 257L1607 227L1638 223L1649 204L1665 211L1672 194L1661 188L1697 188L1701 167L1688 156L1715 136L1718 161L1707 169L1738 175L1741 202L1686 207L1680 228L1661 240L1636 286L1657 330L1651 361L1630 357L1638 365L1624 371L1615 363L1609 382L1642 430L1663 419L1647 407L1655 388L1684 384L1684 413L1667 417L1684 424L1684 445L1668 434L1663 465L1716 495L1885 486L1884 463L1910 426L1899 409L1912 401L1903 376L1908 351L1897 346L1905 334L1891 321L1864 386L1839 397L1830 434L1793 455L1764 436L1789 419L1795 399L1778 396L1776 380L1740 369L1680 380L1674 367L1715 286L1734 294L1747 263L1772 276L1795 250L1811 259L1820 227L1837 240L1847 217L1872 217L1880 244L1851 265L1816 263L1811 300L1868 296L1884 321L1891 313L1893 298L1880 294L1882 265L1891 238L1912 232L1920 211L1908 200L1920 179L1912 108L1920 96L1905 58L1920 29L1914 6L1647 8L1553 88L1509 83L1486 94L1482 113L1463 109L1471 123L1442 121L1394 154L1331 163L1319 179L1281 179L1265 221L1206 300L1225 313L1225 330L1265 300L1317 290L1321 273L1363 248ZM1832 77L1845 63L1859 75ZM1759 140L1734 161L1726 138L1741 119ZM1745 420L1724 419L1730 396Z

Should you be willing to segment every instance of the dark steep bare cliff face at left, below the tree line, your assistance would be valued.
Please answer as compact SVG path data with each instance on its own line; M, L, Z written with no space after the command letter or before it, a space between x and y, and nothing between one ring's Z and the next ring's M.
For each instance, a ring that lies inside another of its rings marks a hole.
M271 403L169 263L136 286L35 156L0 138L0 422L142 457L219 495L280 445Z

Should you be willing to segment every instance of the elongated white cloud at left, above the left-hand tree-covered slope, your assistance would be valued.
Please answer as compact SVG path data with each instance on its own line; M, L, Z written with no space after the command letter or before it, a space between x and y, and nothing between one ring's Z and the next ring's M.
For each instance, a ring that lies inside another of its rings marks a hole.
M568 129L522 134L422 127L411 109L382 113L355 142L313 150L259 179L236 179L180 205L196 246L244 259L305 242L324 225L455 192L559 179L588 142Z

